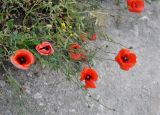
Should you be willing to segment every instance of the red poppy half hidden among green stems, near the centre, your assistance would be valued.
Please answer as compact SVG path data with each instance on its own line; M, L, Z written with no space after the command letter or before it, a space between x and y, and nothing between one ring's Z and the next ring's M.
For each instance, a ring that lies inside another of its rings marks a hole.
M72 60L86 59L85 53L81 50L81 47L78 44L71 44L68 48L68 52L69 52L69 57Z

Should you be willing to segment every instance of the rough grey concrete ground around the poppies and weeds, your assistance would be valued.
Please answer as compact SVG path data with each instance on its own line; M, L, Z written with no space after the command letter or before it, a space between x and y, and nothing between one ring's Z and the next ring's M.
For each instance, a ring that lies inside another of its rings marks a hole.
M112 1L105 1L103 6L113 8ZM0 81L1 92L5 91L4 95L0 93L0 115L160 115L159 6L160 2L146 4L145 11L138 15L114 10L113 15L120 16L118 24L107 16L104 31L116 42L133 46L138 61L133 69L125 72L112 61L95 60L94 68L100 79L97 88L89 93L98 103L63 75L35 68L37 71L25 73L29 77L24 83L27 88L24 96L13 96L11 90L6 90L7 84ZM110 52L122 48L102 41L95 45L104 44L109 45L105 50ZM114 58L103 52L97 55ZM18 72L17 76L22 75Z

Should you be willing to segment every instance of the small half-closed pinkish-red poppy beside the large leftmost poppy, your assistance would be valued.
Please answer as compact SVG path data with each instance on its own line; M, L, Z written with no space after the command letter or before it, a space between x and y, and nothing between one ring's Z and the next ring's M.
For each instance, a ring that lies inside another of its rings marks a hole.
M52 45L49 42L42 42L36 46L36 50L40 55L51 55L54 53Z

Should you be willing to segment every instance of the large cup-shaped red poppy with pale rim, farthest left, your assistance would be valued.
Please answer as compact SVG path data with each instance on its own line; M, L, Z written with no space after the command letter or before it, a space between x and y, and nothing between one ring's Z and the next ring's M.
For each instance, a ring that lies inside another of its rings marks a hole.
M19 49L10 57L10 61L17 68L27 70L34 63L35 58L28 50Z

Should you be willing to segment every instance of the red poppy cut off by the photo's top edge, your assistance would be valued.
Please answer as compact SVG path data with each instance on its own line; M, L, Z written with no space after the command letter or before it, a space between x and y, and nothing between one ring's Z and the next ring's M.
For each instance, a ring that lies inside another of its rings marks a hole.
M127 5L130 12L140 13L144 9L143 0L127 0Z

